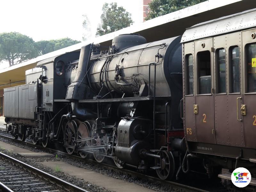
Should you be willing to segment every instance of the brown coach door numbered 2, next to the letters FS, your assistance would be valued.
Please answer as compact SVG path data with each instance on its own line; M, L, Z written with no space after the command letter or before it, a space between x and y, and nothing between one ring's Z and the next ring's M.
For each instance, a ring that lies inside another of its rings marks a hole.
M195 105L198 142L216 143L214 129L213 39L195 41Z

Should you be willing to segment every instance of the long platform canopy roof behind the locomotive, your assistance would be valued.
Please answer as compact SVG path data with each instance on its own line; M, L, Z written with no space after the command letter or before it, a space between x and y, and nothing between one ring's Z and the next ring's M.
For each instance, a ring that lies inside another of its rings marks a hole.
M66 52L80 50L82 46L88 43L100 43L101 46L106 49L106 47L111 45L111 41L115 36L126 33L139 33L141 36L144 36L148 42L157 41L182 35L186 28L195 24L253 8L256 8L256 1L252 0L208 0L143 23L135 23L128 28L89 39L88 41L41 55L12 67L1 69L0 90L5 87L10 87L10 80L12 86L24 84L25 70L36 67L37 62Z

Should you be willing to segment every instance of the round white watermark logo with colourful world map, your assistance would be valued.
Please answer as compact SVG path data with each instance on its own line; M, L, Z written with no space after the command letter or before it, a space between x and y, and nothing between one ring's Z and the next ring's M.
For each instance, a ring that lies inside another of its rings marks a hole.
M231 181L236 187L246 187L250 184L251 173L244 167L236 168L231 174Z

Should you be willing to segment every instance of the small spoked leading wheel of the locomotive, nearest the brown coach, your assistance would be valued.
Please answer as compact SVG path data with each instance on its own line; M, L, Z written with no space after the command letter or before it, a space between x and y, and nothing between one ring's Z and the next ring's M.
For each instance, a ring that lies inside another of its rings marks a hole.
M162 180L172 179L175 172L175 161L171 151L159 151L157 155L160 158L156 158L156 174Z

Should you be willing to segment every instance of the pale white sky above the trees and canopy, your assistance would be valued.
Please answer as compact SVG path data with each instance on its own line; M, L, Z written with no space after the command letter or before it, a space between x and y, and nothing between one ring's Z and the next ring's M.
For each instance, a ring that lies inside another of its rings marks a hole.
M82 15L88 16L95 34L105 2L116 2L134 22L143 21L142 0L1 0L0 33L16 31L34 41L64 37L82 41Z

